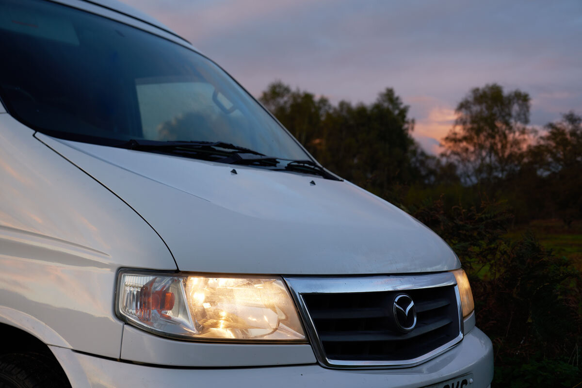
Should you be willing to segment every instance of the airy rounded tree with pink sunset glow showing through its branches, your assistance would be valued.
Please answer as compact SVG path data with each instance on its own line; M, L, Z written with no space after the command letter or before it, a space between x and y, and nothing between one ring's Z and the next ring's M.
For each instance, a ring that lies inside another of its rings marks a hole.
M526 92L504 93L498 84L488 84L471 90L455 112L442 156L459 166L465 183L491 187L519 169L532 133Z

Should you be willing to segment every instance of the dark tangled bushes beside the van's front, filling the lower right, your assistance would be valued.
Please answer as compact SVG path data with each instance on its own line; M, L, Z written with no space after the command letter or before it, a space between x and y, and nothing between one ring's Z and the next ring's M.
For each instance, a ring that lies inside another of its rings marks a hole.
M491 337L495 382L508 387L582 382L581 275L567 258L525 233L506 237L512 214L500 202L445 211L442 199L405 208L438 233L471 280L477 325ZM574 357L576 356L576 357Z

